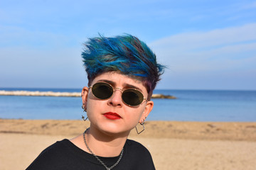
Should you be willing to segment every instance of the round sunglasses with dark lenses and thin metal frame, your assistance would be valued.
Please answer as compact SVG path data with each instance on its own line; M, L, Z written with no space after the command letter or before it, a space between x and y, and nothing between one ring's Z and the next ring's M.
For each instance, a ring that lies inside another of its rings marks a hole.
M99 99L106 100L110 98L114 93L114 88L105 82L98 82L89 87L92 89L92 94ZM128 106L138 106L142 101L146 100L142 92L137 89L126 89L122 90L116 88L122 92L122 101ZM146 100L147 101L147 100Z

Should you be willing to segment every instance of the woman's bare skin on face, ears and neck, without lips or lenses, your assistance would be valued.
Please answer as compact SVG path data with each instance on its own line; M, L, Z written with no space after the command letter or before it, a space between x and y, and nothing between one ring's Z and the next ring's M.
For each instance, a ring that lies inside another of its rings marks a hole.
M107 81L115 89L114 94L107 100L96 98L92 90L86 86L82 89L82 103L90 120L90 130L87 131L85 137L87 145L94 154L101 157L117 157L124 147L130 130L138 123L144 122L154 103L144 100L139 106L127 106L122 101L122 91L119 89L129 89L131 86L132 89L136 88L141 91L144 98L147 98L146 87L142 85L142 81L118 72L106 72L95 77L92 85L102 81ZM107 112L117 113L121 118L108 119L104 115ZM82 135L70 141L85 152L89 152Z

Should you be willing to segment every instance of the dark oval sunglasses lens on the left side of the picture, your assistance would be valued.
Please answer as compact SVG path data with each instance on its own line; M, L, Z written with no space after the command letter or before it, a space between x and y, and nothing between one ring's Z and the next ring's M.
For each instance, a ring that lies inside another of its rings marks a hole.
M112 86L105 83L97 83L92 86L92 94L100 99L110 98L113 94Z

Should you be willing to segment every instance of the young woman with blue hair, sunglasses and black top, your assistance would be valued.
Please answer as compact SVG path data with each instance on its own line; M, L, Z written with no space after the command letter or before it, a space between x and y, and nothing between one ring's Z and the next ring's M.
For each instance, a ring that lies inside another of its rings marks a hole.
M127 137L138 123L144 128L164 67L132 35L91 38L82 58L88 78L82 108L90 128L46 148L27 169L155 169L149 151Z

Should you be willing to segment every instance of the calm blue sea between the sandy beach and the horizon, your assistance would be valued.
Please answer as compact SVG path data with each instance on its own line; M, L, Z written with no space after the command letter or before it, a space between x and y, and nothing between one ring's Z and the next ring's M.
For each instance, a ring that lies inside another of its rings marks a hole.
M82 89L0 88L5 91L80 92ZM154 98L146 120L256 122L256 91L163 90L154 94L176 99ZM80 97L0 96L0 118L79 120Z

